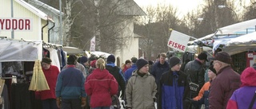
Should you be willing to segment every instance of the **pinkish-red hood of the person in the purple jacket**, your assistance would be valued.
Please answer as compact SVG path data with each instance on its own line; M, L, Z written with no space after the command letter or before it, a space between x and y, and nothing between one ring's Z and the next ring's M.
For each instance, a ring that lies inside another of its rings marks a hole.
M256 86L256 70L252 67L246 68L241 76L242 86Z

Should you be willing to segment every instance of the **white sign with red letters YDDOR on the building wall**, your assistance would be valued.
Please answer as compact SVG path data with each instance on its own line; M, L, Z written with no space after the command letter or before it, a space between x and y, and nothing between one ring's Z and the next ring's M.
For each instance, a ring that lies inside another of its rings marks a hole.
M0 30L32 30L30 18L0 18Z

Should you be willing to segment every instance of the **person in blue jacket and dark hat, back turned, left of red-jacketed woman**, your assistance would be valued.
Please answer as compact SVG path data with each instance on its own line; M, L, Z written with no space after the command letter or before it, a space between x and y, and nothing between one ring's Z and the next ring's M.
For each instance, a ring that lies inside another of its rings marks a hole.
M76 58L67 58L66 69L58 74L56 103L61 109L80 109L86 105L85 78L81 70L75 68Z

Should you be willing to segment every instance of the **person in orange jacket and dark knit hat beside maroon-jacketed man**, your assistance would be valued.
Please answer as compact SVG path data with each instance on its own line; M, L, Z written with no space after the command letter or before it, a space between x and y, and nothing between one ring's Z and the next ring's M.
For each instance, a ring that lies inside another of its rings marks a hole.
M215 79L215 77L217 76L217 72L214 69L214 66L211 65L208 68L208 77L210 79L210 81L206 82L206 84L204 84L201 88L201 90L198 93L198 96L194 97L192 100L192 103L195 103L196 105L201 105L201 104L205 104L205 109L209 109L209 88L210 88L210 83Z

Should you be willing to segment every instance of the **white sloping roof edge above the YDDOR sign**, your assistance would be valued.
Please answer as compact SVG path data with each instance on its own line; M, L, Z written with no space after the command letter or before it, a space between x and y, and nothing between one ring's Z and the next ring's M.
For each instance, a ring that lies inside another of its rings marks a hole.
M24 6L27 10L30 10L32 13L38 15L39 18L42 18L44 20L47 20L48 16L47 14L43 13L41 10L38 10L37 8L35 8L34 6L31 6L29 3L23 1L23 0L15 0L15 2L17 2L18 4Z

